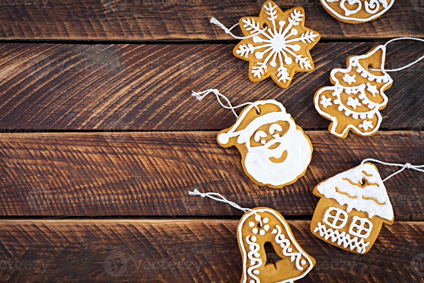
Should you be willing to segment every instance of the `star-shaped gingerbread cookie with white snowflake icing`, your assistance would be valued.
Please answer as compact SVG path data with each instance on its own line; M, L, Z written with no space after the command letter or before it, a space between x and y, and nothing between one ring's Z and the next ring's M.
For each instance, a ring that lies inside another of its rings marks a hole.
M314 69L309 50L320 35L304 27L304 10L296 7L288 11L272 1L266 1L259 17L243 17L240 28L245 36L233 50L236 57L249 61L249 78L262 81L271 78L282 88L287 88L295 71Z

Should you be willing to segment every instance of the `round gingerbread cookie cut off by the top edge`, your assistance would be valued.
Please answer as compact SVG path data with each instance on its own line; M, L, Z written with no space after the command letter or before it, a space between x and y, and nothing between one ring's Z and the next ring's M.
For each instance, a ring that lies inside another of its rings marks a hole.
M320 0L322 6L341 22L357 24L377 19L394 0Z

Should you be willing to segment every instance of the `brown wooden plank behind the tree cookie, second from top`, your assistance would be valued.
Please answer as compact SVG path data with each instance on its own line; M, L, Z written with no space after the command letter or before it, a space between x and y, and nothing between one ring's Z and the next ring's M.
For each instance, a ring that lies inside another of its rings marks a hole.
M326 129L329 121L312 103L315 91L331 85L330 71L348 56L375 44L318 43L311 52L315 70L296 73L286 90L271 79L251 82L248 62L232 55L233 44L0 44L0 129L225 129L234 123L231 111L213 95L201 102L190 96L208 88L233 105L276 99L299 126ZM422 42L389 47L387 68L422 55ZM380 129L424 129L422 81L421 62L393 73Z

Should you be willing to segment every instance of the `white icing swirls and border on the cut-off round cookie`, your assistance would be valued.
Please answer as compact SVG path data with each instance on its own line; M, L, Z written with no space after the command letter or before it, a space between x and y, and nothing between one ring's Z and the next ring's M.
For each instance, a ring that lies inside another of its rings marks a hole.
M378 1L370 0L370 2L365 1L364 8L365 8L365 11L369 14L369 17L361 19L361 18L353 17L351 15L354 15L361 10L363 0L362 1L361 0L341 0L340 8L342 8L343 11L345 12L344 15L340 15L327 3L327 2L332 3L332 2L338 2L338 1L339 0L321 0L321 4L324 7L326 7L336 17L343 20L351 20L351 21L357 21L357 22L368 22L368 21L374 20L375 18L384 14L385 11L387 11L395 2L394 0L378 0ZM389 1L389 3L387 1ZM350 10L349 9L350 7L346 7L346 4L345 4L346 2L348 2L349 5L355 5L355 8L353 10ZM379 3L382 4L383 9L378 12Z

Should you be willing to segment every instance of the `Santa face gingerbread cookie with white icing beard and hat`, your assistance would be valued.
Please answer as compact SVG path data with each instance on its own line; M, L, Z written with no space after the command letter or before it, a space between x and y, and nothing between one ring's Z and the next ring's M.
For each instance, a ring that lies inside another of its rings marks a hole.
M223 147L236 146L245 173L256 184L271 188L303 176L312 157L312 144L302 128L271 99L245 107L234 125L218 133L217 141Z

